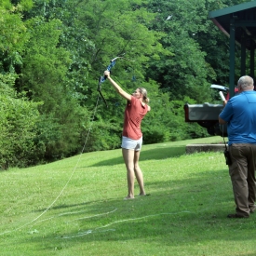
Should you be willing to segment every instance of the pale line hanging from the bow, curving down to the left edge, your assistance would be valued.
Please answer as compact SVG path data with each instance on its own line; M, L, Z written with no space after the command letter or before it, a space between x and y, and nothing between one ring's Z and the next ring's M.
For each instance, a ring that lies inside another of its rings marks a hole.
M94 112L93 112L93 116L92 116L92 119L91 119L92 121L91 121L90 126L89 126L89 128L88 128L88 136L89 136L90 131L91 131L91 128L92 128L92 124L93 124L94 117L95 117L95 115L96 115L96 110L97 110L97 107L98 107L98 104L99 104L99 99L100 99L100 96L98 95L98 99L97 99L97 102L96 102L96 105L95 105L95 109L94 109ZM8 230L8 231L6 231L6 232L0 233L0 236L3 236L3 235L5 235L5 234L7 234L7 233L11 233L11 232L14 232L14 231L17 231L17 230L20 230L21 228L23 228L23 227L25 227L25 226L27 226L27 225L33 223L33 222L36 222L40 217L42 217L45 213L47 213L48 209L50 209L50 208L56 203L56 201L60 198L60 196L62 195L62 193L64 192L64 190L66 189L67 185L69 184L69 182L71 181L71 179L72 179L72 177L73 177L73 175L74 175L74 171L75 171L75 169L77 168L77 165L78 165L78 163L80 162L81 156L83 155L83 153L84 153L84 151L85 151L85 148L86 148L86 145L87 145L87 142L88 142L88 136L87 136L87 138L86 138L86 141L85 141L85 143L84 143L84 146L83 146L83 148L82 148L82 151L81 151L81 153L80 153L80 155L79 155L79 157L78 157L78 160L76 161L76 164L75 164L75 166L74 166L74 168L73 168L73 171L72 171L72 173L71 173L71 175L70 175L68 181L66 182L66 184L65 184L65 185L63 186L63 188L61 189L60 194L57 195L57 197L56 197L56 198L53 200L53 202L47 207L47 209L45 209L41 214L39 214L36 218L34 218L33 221L27 222L27 223L25 223L25 224L23 224L23 225L20 225L19 227L15 228L15 229L13 229L13 230Z

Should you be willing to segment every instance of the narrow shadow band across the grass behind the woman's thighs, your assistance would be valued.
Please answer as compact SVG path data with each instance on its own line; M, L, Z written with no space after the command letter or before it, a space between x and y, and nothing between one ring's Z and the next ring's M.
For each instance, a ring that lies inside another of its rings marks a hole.
M148 149L144 151L142 148L140 161L145 161L149 159L160 160L160 159L165 159L170 157L179 157L184 154L185 154L184 146L154 148L154 149ZM122 155L121 150L120 150L120 155ZM90 167L113 166L113 165L120 165L123 163L124 163L123 157L120 156L120 157L99 161L97 164L91 165Z

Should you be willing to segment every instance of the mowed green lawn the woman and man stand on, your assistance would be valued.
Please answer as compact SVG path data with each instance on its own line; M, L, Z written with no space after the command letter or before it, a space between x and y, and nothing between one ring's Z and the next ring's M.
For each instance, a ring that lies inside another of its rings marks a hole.
M0 255L256 255L256 215L226 218L235 203L222 152L185 154L221 141L143 145L150 195L134 200L123 200L119 149L0 172Z

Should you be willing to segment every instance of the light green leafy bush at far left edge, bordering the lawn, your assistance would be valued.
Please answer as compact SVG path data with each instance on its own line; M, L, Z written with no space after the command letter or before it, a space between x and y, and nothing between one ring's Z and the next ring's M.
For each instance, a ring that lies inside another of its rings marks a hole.
M34 164L38 103L27 101L14 88L13 74L0 74L0 168Z

